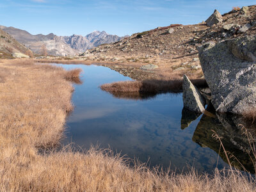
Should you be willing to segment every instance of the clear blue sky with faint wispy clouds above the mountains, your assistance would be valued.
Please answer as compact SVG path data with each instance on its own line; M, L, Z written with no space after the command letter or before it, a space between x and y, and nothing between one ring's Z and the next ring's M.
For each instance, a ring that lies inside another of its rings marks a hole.
M24 29L33 35L87 35L106 31L119 36L168 26L196 24L214 9L256 4L237 0L1 0L0 25Z

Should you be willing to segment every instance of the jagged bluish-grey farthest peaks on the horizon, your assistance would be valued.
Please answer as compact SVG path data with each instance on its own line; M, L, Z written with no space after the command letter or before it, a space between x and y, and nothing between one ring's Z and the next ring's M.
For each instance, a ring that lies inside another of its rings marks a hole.
M92 33L82 36L82 35L72 35L72 36L60 36L60 38L70 45L73 49L77 49L80 52L84 52L87 49L92 49L101 44L110 44L112 42L117 42L122 39L122 37L117 35L108 35L105 31L93 31Z

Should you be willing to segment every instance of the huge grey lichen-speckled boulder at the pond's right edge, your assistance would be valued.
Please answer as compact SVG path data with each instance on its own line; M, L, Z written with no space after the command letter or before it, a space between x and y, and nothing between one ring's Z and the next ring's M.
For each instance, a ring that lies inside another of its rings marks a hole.
M198 48L212 104L220 113L242 115L256 104L256 36Z

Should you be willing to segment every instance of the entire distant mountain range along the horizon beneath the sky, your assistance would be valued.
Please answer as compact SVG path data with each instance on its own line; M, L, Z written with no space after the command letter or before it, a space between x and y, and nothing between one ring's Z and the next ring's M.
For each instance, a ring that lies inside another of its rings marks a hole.
M47 53L53 56L75 56L98 45L109 44L122 39L117 35L108 35L105 31L93 31L86 36L57 36L53 33L31 35L28 31L6 26L0 26L0 29L12 35L18 42L36 54L41 54L42 46L45 45Z

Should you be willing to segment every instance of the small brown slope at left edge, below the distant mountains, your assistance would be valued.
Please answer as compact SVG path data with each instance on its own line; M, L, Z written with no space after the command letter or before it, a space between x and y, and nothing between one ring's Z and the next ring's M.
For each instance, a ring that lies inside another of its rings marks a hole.
M32 56L32 52L0 29L0 59Z

